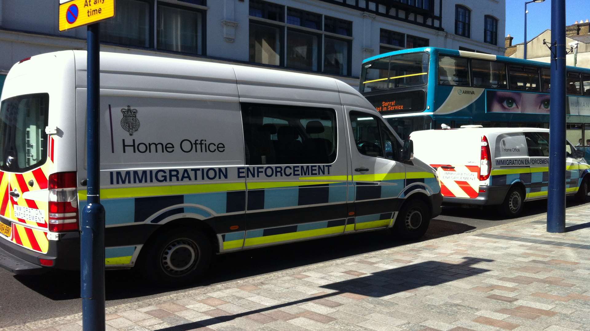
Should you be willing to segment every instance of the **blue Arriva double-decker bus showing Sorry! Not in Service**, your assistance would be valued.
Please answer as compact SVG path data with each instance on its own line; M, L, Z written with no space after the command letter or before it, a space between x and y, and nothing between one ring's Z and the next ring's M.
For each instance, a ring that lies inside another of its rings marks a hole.
M480 124L549 127L550 64L434 47L365 59L360 92L402 138ZM590 69L568 67L568 139L590 145ZM590 158L590 148L588 158Z

